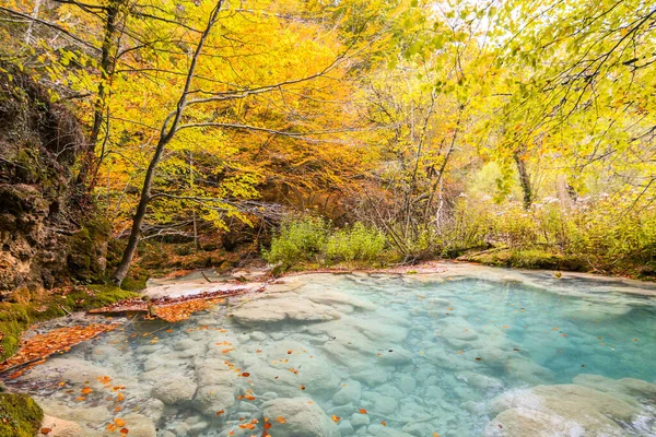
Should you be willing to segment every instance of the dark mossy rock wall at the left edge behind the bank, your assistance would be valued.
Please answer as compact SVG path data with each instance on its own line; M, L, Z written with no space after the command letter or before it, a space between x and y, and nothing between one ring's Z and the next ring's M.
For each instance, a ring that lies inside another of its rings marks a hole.
M75 182L84 142L63 105L0 62L0 299L102 277L109 225Z

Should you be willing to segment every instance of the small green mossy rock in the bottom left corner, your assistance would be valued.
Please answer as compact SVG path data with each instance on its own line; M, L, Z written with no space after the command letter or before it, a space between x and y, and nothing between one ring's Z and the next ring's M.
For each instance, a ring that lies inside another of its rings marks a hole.
M27 394L0 393L0 437L33 437L44 420Z

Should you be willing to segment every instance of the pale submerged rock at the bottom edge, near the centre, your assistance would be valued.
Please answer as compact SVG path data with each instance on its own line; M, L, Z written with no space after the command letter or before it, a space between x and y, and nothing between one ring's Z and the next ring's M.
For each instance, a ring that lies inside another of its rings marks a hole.
M262 404L267 417L283 417L286 423L272 421L276 437L339 437L337 425L307 398L274 399Z

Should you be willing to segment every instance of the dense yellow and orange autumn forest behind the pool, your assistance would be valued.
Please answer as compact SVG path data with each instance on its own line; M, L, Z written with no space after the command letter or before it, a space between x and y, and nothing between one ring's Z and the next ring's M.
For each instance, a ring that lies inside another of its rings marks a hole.
M2 196L60 178L44 226L106 251L71 244L81 281L260 252L647 277L655 29L642 0L5 1L2 119L61 141L3 135Z

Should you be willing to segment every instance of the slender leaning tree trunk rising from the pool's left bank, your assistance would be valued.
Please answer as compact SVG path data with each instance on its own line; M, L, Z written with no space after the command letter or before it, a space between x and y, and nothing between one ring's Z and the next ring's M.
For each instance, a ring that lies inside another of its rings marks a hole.
M202 46L210 34L210 31L216 23L216 19L219 16L219 11L223 4L223 0L219 0L216 5L212 10L210 17L208 20L208 24L200 35L200 39L198 42L198 46L196 47L196 51L194 52L194 57L191 58L191 63L189 66L189 70L187 72L187 80L185 81L185 87L183 93L180 94L180 98L177 103L177 107L174 113L172 113L164 122L162 123L162 130L160 131L160 140L157 141L157 146L155 147L155 153L148 166L148 170L145 172L145 178L143 180L143 187L141 189L141 198L139 199L139 205L137 206L137 212L134 213L134 218L132 221L132 229L130 231L130 237L128 238L128 245L124 251L120 263L116 268L116 271L112 275L112 281L119 285L122 283L122 280L128 274L128 270L130 269L130 264L132 263L132 259L134 258L134 253L137 252L137 246L139 245L139 240L141 239L141 227L143 225L143 221L145 218L145 212L148 210L148 205L151 201L151 190L153 180L155 177L155 170L157 168L157 164L162 158L162 154L164 153L164 149L171 142L177 127L179 125L180 118L183 117L183 113L185 110L185 106L187 104L187 95L189 94L189 88L191 87L191 81L194 80L194 73L196 72L196 66L198 63L198 58L202 51Z

